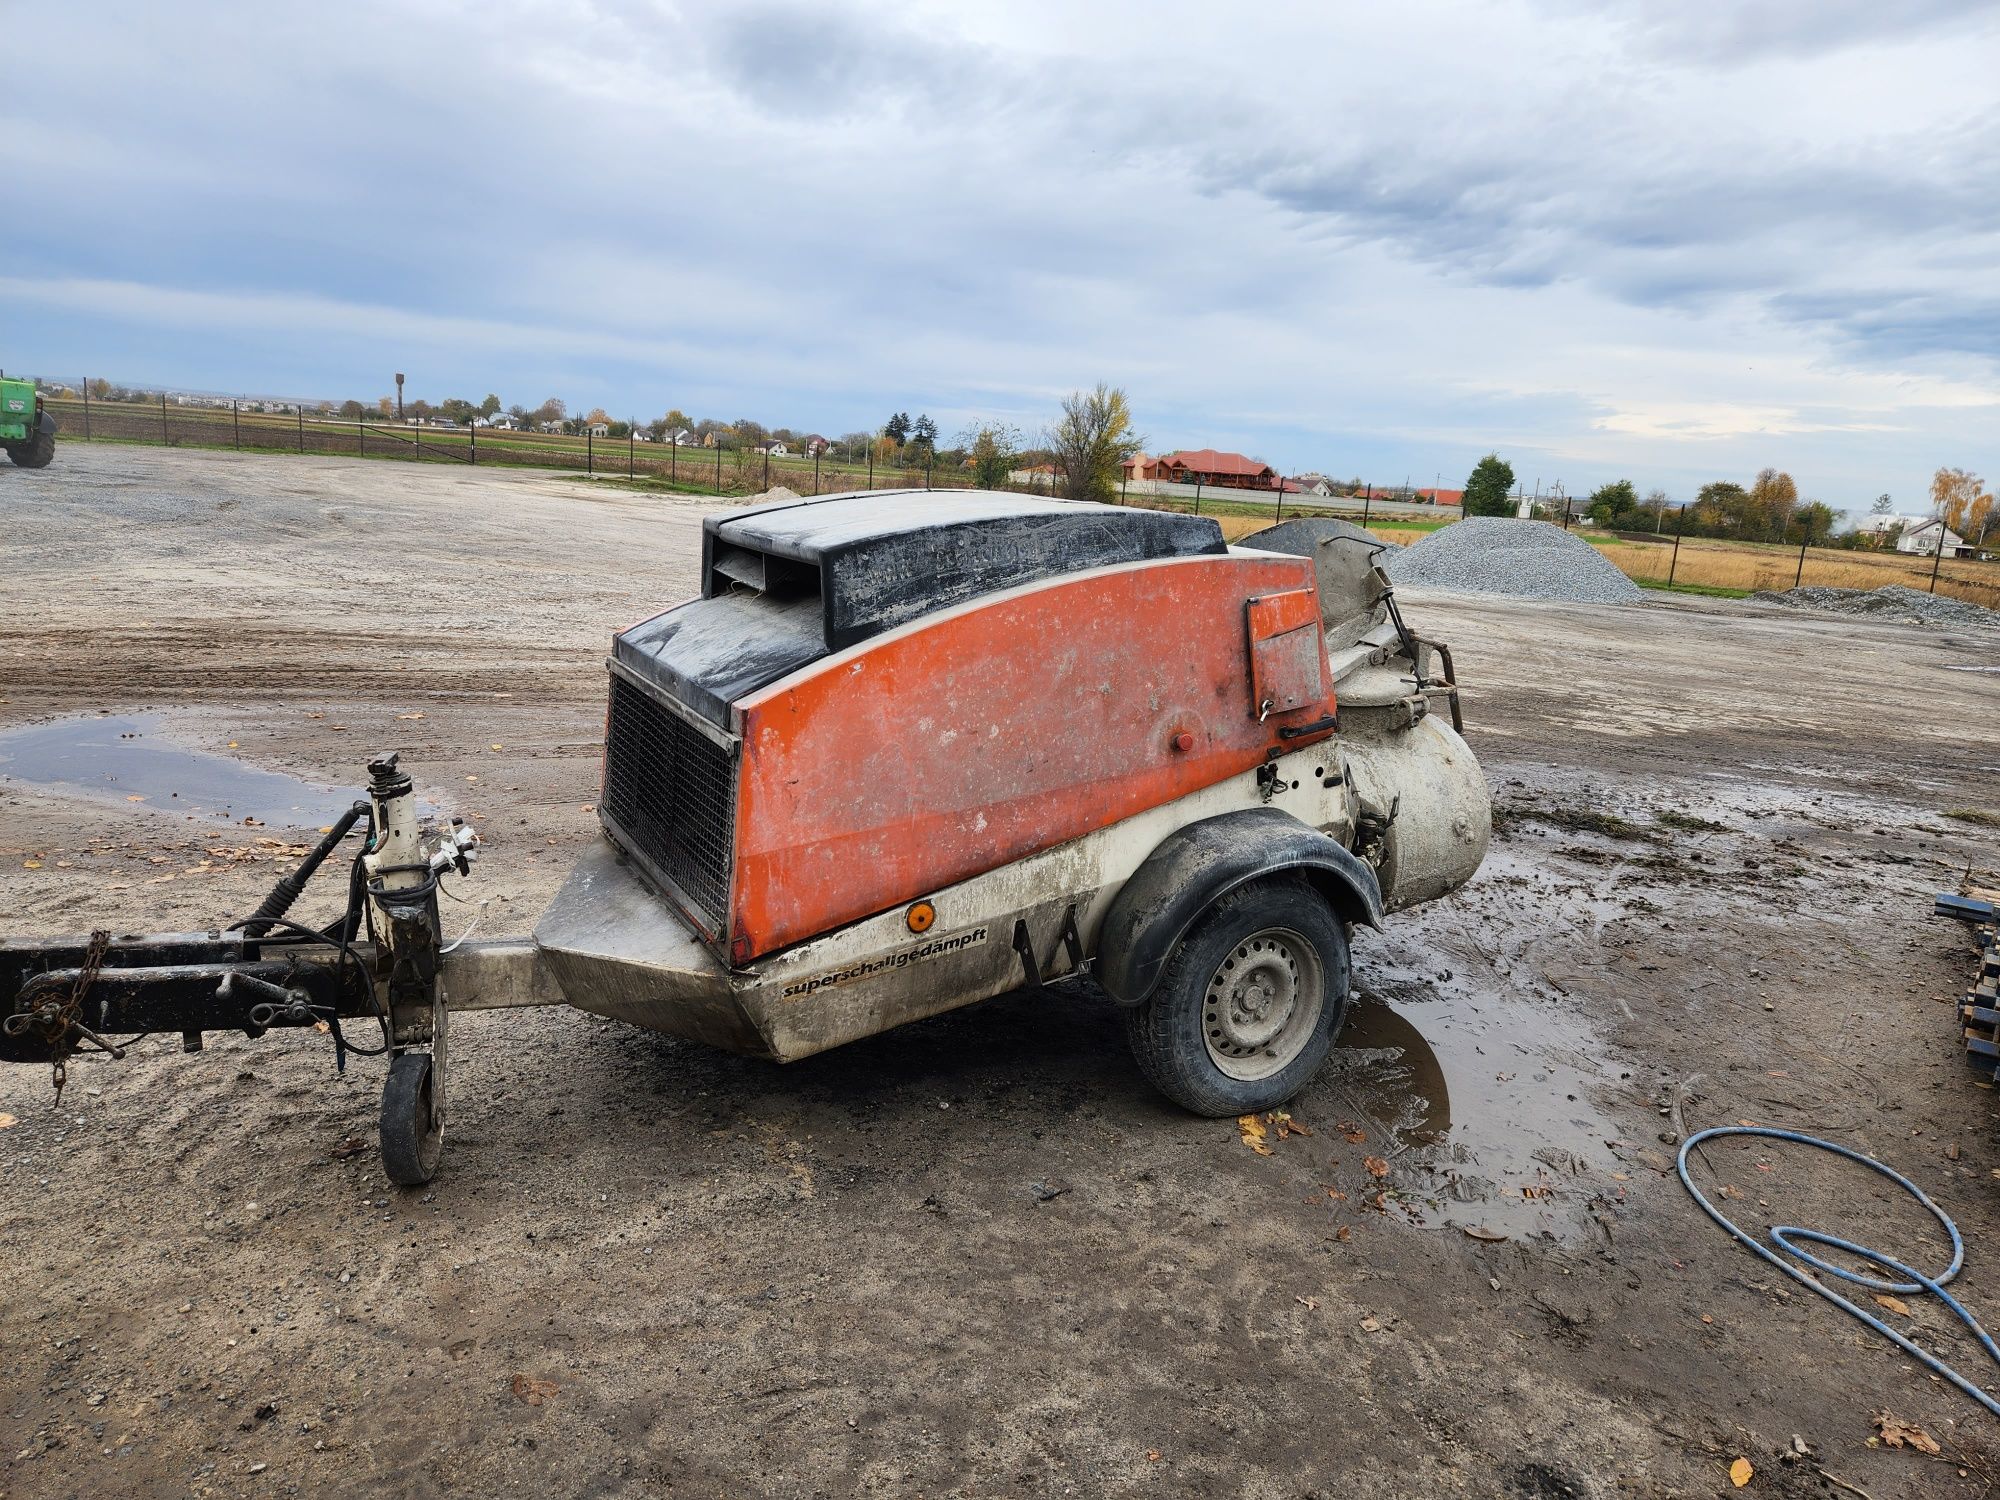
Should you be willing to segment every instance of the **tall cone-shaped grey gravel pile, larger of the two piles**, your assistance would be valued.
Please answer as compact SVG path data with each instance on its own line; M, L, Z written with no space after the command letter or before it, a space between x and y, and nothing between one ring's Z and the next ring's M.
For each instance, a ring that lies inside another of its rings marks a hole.
M1630 604L1642 596L1590 542L1546 520L1468 516L1384 554L1390 582L1468 594Z

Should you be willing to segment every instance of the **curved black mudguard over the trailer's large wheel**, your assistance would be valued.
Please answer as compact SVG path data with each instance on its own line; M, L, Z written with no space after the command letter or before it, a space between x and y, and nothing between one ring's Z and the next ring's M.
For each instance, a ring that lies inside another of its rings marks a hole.
M1120 1006L1144 1004L1194 920L1250 880L1296 872L1342 922L1382 926L1374 870L1280 808L1246 808L1176 828L1112 898L1096 974Z

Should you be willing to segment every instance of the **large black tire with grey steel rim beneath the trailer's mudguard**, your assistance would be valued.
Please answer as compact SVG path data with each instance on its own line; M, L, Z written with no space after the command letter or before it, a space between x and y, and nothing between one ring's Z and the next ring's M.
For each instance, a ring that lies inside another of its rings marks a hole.
M1344 924L1312 886L1258 880L1188 928L1158 988L1126 1012L1126 1040L1184 1110L1256 1114L1312 1080L1346 1016Z

